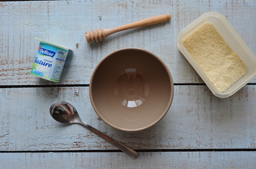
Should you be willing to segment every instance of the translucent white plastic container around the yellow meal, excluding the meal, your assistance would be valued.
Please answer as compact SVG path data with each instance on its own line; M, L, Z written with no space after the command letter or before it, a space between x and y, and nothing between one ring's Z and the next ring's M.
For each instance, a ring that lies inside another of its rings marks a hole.
M209 80L204 71L198 66L196 61L192 58L189 52L182 44L182 40L192 34L204 23L212 23L213 26L217 29L219 34L224 38L228 45L236 52L241 60L247 66L247 73L237 80L233 85L231 85L226 91L220 92ZM190 23L186 28L184 28L176 37L176 44L180 52L186 57L189 63L193 66L195 71L199 76L204 80L204 83L209 87L211 92L221 98L230 97L236 93L239 89L249 83L256 77L256 56L249 49L249 47L244 43L239 34L235 29L230 25L227 19L218 12L207 12L201 17Z

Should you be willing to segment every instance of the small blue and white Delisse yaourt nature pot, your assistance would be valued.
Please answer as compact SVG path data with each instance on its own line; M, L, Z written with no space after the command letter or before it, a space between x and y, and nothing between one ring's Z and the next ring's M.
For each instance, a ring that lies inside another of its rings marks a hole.
M40 40L38 52L31 70L31 74L46 80L58 82L64 67L69 49Z

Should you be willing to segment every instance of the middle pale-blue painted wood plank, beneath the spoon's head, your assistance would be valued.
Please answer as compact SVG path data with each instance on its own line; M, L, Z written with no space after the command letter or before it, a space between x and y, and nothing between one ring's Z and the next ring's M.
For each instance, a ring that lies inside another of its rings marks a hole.
M175 86L169 112L141 132L122 132L99 120L88 87L0 89L0 151L116 149L80 125L55 121L49 107L58 100L132 149L255 149L255 87L246 85L222 99L204 85Z

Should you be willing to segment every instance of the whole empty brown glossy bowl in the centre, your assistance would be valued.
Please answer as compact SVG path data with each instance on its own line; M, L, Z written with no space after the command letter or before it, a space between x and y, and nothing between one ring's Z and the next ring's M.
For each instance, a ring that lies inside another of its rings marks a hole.
M122 131L140 131L160 121L174 93L172 75L155 54L126 48L106 56L90 80L97 115Z

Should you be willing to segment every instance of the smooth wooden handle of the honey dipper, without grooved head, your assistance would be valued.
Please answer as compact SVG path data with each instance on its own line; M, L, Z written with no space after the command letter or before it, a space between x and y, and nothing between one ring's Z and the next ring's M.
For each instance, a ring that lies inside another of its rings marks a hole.
M124 31L124 30L127 30L127 29L138 28L138 27L141 27L141 26L154 25L154 24L157 24L157 23L164 22L166 20L171 20L171 15L170 14L150 17L150 18L145 19L145 20L140 20L140 21L137 21L137 22L134 22L134 23L129 23L127 25L119 26L119 27L116 27L116 28L104 29L104 32L105 32L105 36L107 37L107 36L109 36L113 33L116 33L116 32Z

